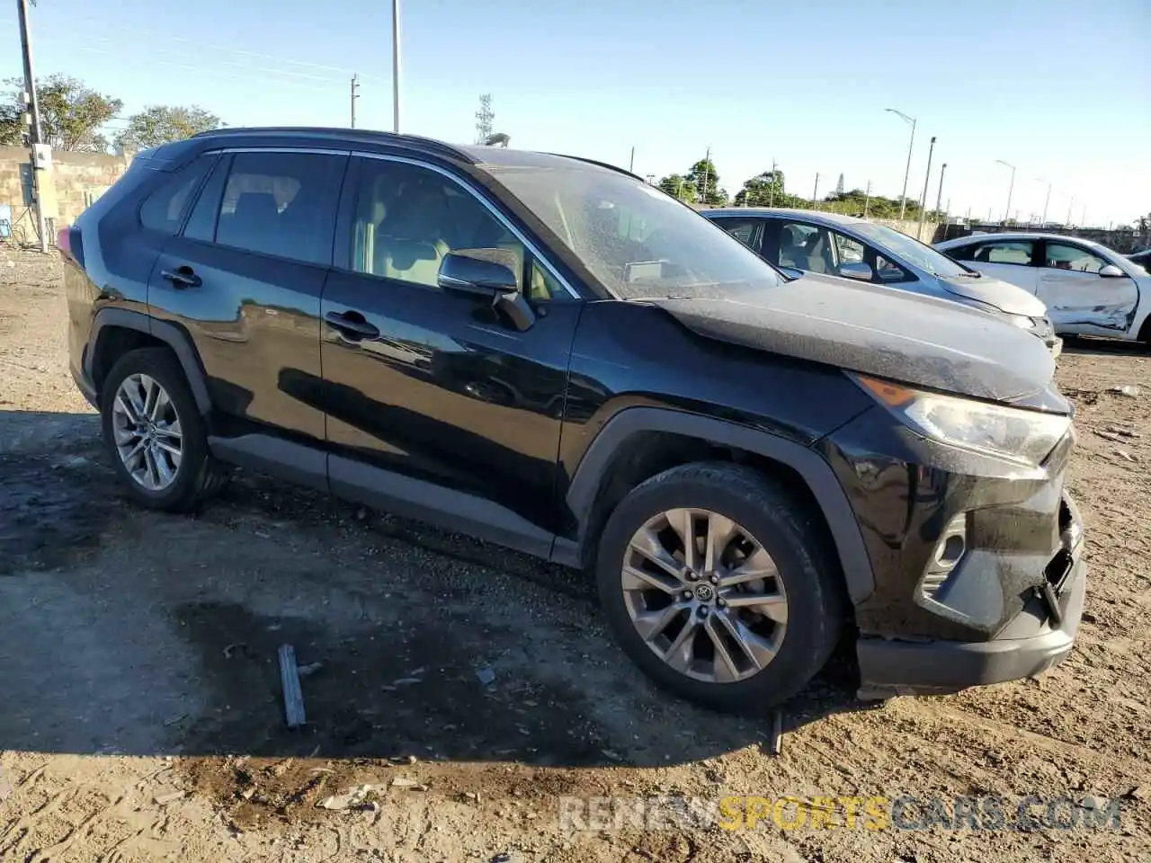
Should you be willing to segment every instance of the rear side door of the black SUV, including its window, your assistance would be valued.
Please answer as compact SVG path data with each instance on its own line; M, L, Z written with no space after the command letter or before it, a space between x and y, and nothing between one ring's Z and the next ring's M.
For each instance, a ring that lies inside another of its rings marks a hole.
M346 152L222 153L157 260L152 312L191 335L221 436L322 446L320 295L346 165ZM319 452L312 467L322 478Z

